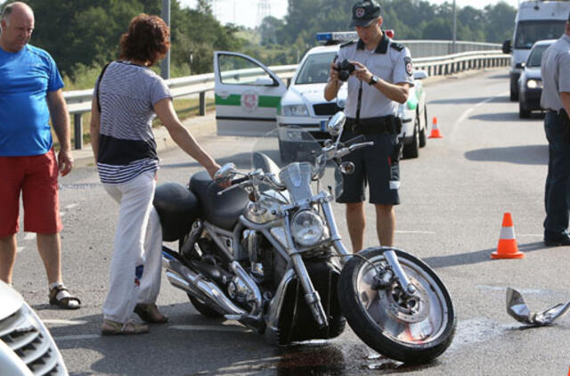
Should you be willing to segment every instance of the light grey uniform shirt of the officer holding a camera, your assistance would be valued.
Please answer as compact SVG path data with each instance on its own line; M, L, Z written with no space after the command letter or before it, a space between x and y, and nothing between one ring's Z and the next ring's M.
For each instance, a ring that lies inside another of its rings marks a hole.
M336 63L344 60L358 61L364 65L371 74L391 83L408 83L414 86L411 68L411 53L408 48L390 40L386 34L382 35L379 45L373 51L366 50L364 42L350 42L341 45L338 50ZM354 76L348 78L348 95L346 97L345 114L347 118L356 118L358 105L358 89L360 80ZM377 118L380 116L395 115L398 103L387 98L386 95L362 82L362 104L360 119Z

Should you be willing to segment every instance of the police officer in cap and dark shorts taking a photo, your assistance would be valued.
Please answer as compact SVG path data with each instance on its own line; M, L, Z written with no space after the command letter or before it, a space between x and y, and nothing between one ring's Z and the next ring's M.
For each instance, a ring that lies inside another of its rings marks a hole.
M370 202L376 208L376 231L383 246L394 243L394 205L400 203L401 122L395 113L398 103L408 100L413 86L411 54L403 45L391 41L381 26L379 4L374 0L354 4L350 27L356 29L359 39L340 46L324 90L327 101L334 99L343 84L338 68L346 65L343 62L354 64L347 79L343 140L365 135L367 141L374 142L374 146L354 151L344 159L352 161L355 169L353 175L344 179L338 202L346 203L346 223L354 252L363 245L365 184L369 185Z

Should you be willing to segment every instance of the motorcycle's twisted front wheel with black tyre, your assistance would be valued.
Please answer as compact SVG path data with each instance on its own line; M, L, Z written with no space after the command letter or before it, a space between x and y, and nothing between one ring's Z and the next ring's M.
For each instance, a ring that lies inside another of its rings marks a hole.
M397 283L379 287L374 277L387 266L386 250L363 249L346 262L338 281L340 307L354 333L372 349L403 363L428 363L452 343L452 298L427 264L400 249L395 254L416 293L406 297Z

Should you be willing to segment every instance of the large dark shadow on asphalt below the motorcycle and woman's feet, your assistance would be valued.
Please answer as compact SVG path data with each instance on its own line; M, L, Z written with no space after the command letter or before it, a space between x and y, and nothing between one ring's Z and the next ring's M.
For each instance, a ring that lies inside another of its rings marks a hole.
M421 372L441 365L402 364L371 350L363 342L314 340L274 347L263 335L225 319L207 319L188 304L160 307L165 325L136 336L98 336L102 315L74 320L84 323L50 328L64 360L75 351L91 364L73 363L72 376L108 375L346 375ZM348 327L346 327L346 331ZM85 336L86 335L86 336ZM73 368L81 367L80 372Z

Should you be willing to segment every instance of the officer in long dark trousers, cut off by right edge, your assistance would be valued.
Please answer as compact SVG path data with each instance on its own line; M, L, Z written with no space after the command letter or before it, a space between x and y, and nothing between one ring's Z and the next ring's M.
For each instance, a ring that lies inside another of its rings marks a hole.
M547 110L544 130L549 140L549 172L544 203L544 243L570 245L570 15L566 32L543 53L541 106Z

